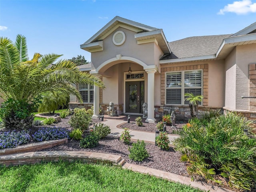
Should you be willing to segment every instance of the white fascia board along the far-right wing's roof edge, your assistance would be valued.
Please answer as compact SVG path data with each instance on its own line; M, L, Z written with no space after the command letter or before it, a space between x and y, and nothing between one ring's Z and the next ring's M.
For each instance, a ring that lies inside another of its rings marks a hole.
M253 41L253 40L256 40L256 34L247 34L247 35L240 35L240 36L224 38L224 40L222 41L222 44L220 45L220 48L218 49L218 51L216 53L216 57L218 57L218 55L224 48L225 44L233 44L233 43Z

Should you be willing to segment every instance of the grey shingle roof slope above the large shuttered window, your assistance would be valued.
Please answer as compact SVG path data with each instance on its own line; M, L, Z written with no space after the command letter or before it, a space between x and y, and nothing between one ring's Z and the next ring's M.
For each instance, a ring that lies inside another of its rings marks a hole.
M172 54L164 55L160 60L210 56L217 53L220 44L227 35L194 36L169 42Z

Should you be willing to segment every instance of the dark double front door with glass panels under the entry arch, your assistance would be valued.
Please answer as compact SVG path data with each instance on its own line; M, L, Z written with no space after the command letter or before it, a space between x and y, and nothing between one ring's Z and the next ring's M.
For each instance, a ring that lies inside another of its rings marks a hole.
M126 82L126 112L143 113L144 81Z

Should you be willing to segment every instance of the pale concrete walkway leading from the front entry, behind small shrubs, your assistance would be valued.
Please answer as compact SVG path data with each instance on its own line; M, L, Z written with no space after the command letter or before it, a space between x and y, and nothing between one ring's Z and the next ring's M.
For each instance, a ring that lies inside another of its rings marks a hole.
M124 131L123 129L120 129L117 126L122 123L125 123L126 121L114 120L114 119L108 119L108 118L105 118L104 120L105 121L102 123L110 127L112 135L120 136L122 134L122 132ZM139 139L139 140L144 140L145 142L151 142L151 143L155 142L155 133L153 133L153 132L130 130L130 135L132 136L133 140ZM170 139L171 144L175 138L178 138L178 136L172 135L172 134L169 134L168 137Z

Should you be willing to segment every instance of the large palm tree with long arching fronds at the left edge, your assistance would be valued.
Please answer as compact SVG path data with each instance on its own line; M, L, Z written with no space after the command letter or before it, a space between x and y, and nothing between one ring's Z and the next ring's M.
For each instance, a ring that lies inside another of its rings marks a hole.
M17 35L14 43L0 37L0 95L7 102L4 106L8 107L9 100L23 104L23 107L24 104L36 104L40 94L54 91L75 95L82 102L78 90L72 84L87 83L104 88L100 79L80 72L73 62L60 60L61 56L35 53L29 60L24 36ZM31 116L31 110L24 108L22 115L19 110L9 110L2 115L4 124L19 128L17 117L25 119ZM15 123L13 118L16 118Z

